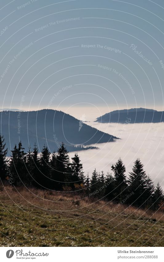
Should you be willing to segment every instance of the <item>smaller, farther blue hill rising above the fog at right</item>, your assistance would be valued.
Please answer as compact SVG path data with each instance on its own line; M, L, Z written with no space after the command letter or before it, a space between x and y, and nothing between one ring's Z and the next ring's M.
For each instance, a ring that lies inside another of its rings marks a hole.
M129 118L129 120L127 119ZM115 110L98 117L95 122L101 123L159 123L164 122L164 112L145 108Z

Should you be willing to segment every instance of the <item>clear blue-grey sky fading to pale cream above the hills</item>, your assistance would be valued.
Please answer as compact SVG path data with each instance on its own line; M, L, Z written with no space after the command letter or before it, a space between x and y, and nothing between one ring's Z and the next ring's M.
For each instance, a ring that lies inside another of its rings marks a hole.
M1 1L0 107L86 120L163 110L163 11L162 0Z

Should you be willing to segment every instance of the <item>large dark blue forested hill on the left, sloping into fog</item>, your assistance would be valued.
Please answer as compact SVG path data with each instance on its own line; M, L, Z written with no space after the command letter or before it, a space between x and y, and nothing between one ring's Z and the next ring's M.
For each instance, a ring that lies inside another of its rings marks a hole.
M29 145L33 148L36 142L40 150L45 143L51 152L57 151L62 141L69 151L78 151L82 149L76 147L79 144L85 146L113 142L117 139L62 111L39 110L21 113L2 111L0 117L1 133L9 149L9 155L10 148L13 149L15 143L18 144L19 138L26 151Z

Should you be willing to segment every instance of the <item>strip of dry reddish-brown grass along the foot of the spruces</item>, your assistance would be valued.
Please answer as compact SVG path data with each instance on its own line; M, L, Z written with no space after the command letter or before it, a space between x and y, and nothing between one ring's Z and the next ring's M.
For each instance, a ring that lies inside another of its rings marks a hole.
M50 190L42 190L30 188L26 189L25 187L14 188L12 186L6 185L0 191L1 197L8 196L13 203L19 203L22 205L34 205L40 208L47 208L52 210L55 206L55 210L66 210L66 208L76 206L77 209L87 209L87 210L99 210L102 213L113 212L117 214L134 214L138 217L144 217L148 219L156 219L157 221L164 220L164 213L146 210L146 209L137 209L134 206L126 205L117 205L112 202L105 200L98 200L94 198L88 198L85 196L80 196L75 193L66 193L66 192L55 192ZM79 204L80 203L80 204Z

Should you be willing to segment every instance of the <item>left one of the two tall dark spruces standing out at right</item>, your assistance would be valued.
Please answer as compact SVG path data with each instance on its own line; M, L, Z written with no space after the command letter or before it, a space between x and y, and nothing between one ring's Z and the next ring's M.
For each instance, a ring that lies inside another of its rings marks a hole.
M112 165L111 170L114 172L114 201L121 202L127 194L126 168L121 158Z

